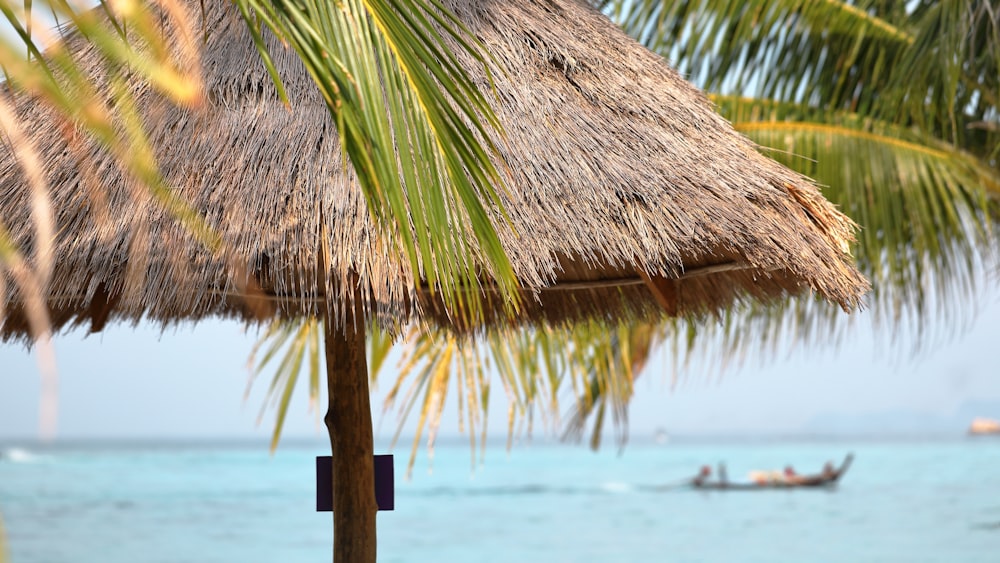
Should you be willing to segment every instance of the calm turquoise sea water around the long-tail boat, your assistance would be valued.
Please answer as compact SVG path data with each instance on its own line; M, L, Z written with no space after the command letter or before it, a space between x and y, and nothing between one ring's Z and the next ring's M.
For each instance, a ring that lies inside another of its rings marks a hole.
M730 479L848 451L835 491L664 487L725 460ZM324 445L0 448L14 563L330 560L314 509ZM1000 561L1000 440L503 447L474 473L438 446L411 481L396 452L382 562Z

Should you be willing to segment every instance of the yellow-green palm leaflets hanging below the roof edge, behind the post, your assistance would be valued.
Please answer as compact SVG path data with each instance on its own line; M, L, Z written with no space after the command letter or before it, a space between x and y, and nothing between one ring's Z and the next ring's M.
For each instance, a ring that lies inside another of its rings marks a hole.
M316 321L276 322L258 340L252 359L253 376L277 365L261 410L276 410L272 449L287 416L298 371L309 366L310 404L320 394L317 346L322 326ZM534 431L536 422L555 430L562 405L571 412L568 439L576 439L595 411L610 412L619 443L627 435L628 402L633 380L645 366L664 329L639 322L608 325L590 321L558 327L497 329L475 337L429 327L414 327L405 337L399 372L386 395L383 412L395 410L398 426L393 445L406 421L417 417L407 473L411 473L420 441L426 435L429 456L444 416L449 395L454 396L459 431L468 432L471 462L485 446L491 396L496 378L507 397L508 447L515 437ZM376 332L368 340L371 378L375 381L392 348L392 339ZM251 384L253 378L251 379ZM249 389L248 389L249 390ZM603 421L603 419L602 419ZM597 447L603 432L595 424L591 443ZM425 434L426 433L426 434Z

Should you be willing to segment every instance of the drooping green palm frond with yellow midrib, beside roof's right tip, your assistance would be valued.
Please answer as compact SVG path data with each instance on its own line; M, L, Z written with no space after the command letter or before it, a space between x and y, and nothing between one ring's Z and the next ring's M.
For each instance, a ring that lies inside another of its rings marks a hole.
M974 156L858 114L715 101L737 130L815 178L862 225L855 256L873 281L871 305L882 319L908 316L919 329L932 312L928 303L966 301L981 263L995 260L990 194L1000 195L1000 174Z

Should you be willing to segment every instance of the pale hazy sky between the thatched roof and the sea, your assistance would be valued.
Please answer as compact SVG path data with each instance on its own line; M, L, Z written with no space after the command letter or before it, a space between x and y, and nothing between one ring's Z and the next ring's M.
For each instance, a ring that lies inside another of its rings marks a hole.
M637 383L632 435L646 437L660 427L677 434L794 433L824 413L907 410L947 416L968 401L1000 401L993 348L1000 302L991 294L982 303L967 331L913 356L907 342L898 343L895 353L877 350L888 347L887 339L873 338L859 319L839 347L785 350L777 360L721 377L695 366L671 389L669 362L661 352ZM184 325L162 335L148 326L113 326L86 338L80 331L62 335L56 340L59 436L266 437L273 412L256 425L266 382L244 401L254 340L235 322ZM386 372L386 382L392 373ZM386 387L374 392L376 413ZM38 388L32 353L0 345L0 439L36 435ZM499 388L492 396L490 436L503 437L505 398ZM307 412L304 387L297 398L285 435L322 435ZM454 411L453 399L448 412ZM375 418L377 435L390 436L395 415L380 426L380 416ZM443 428L457 431L453 415Z

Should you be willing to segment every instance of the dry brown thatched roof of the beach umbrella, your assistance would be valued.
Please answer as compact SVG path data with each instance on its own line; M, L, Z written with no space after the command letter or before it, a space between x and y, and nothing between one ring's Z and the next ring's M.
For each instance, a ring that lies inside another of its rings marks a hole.
M702 314L808 290L857 306L868 285L846 254L853 223L809 180L761 156L660 57L573 0L448 4L502 67L495 108L507 137L498 143L518 234L501 236L525 288L525 320ZM177 109L148 91L139 99L164 175L227 241L226 259L155 205L137 204L110 156L88 146L81 158L47 110L15 100L57 208L54 323L296 316L326 301L343 310L354 270L371 319L447 325L376 236L296 55L269 39L289 112L235 7L209 2L202 24L208 107ZM99 178L105 202L82 170ZM0 145L0 217L30 247L26 192ZM324 233L332 255L318 279ZM233 263L266 294L263 313L241 295ZM23 335L17 291L6 286L0 333Z

